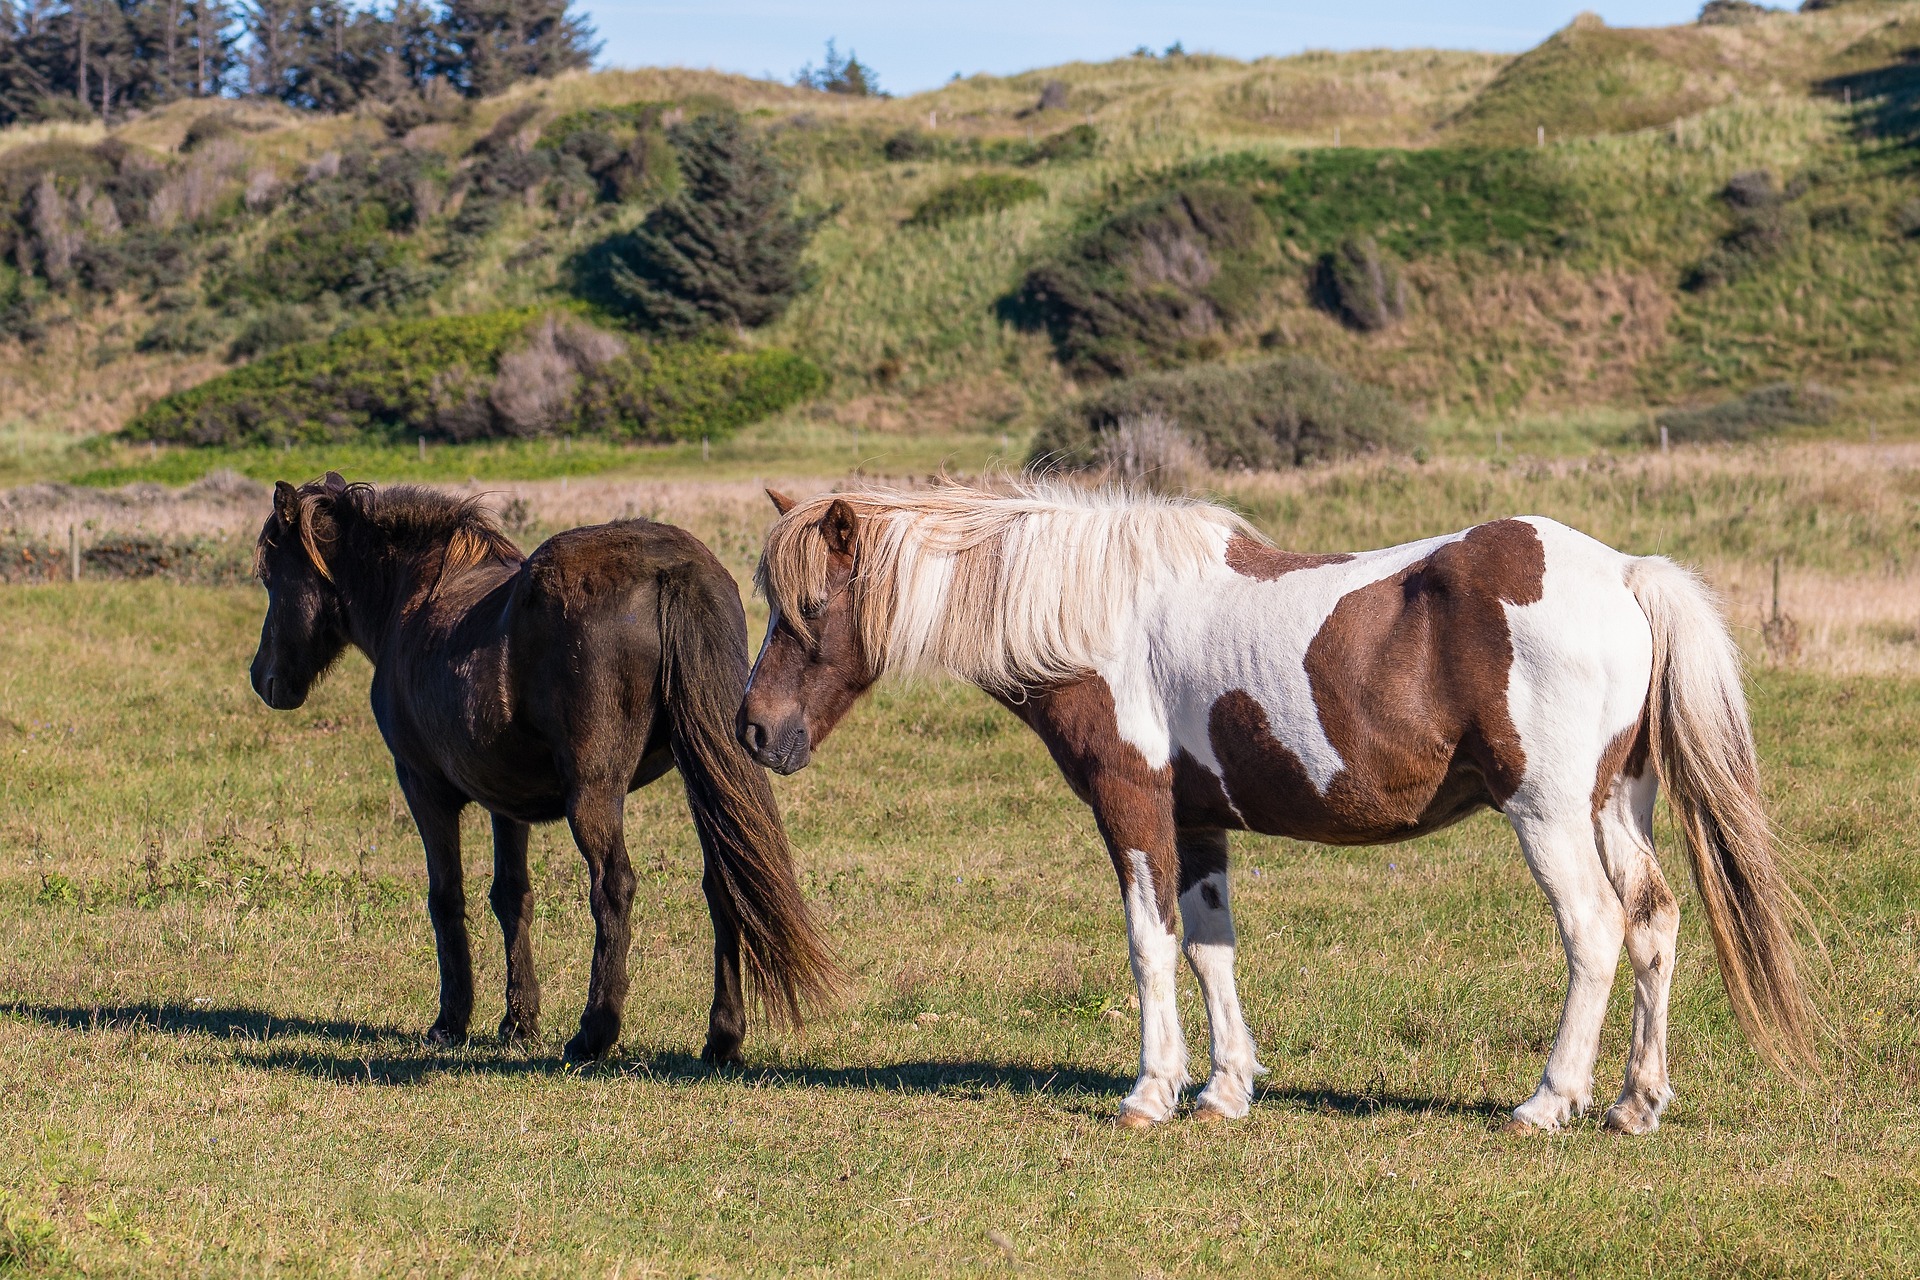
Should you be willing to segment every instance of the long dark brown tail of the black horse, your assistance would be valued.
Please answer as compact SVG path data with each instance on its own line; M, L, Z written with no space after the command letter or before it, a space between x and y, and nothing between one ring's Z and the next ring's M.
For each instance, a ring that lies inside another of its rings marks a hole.
M747 695L739 595L718 564L701 570L689 560L660 574L660 693L674 764L707 865L726 887L747 988L770 1021L799 1027L803 1007L831 1002L843 975L801 898L766 771L733 737Z

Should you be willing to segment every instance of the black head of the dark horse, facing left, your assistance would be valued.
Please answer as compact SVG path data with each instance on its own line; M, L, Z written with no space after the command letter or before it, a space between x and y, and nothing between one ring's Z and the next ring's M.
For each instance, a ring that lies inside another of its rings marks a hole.
M336 472L296 489L273 487L273 514L253 547L253 572L267 587L267 620L253 654L253 693L282 712L307 700L307 691L348 647L348 618L326 568L324 549L336 541L334 505L346 495Z

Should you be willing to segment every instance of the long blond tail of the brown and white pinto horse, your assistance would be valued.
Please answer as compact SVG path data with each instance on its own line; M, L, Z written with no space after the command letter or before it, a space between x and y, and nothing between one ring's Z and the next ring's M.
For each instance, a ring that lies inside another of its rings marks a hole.
M1761 1057L1801 1077L1816 1071L1818 1013L1795 940L1811 917L1774 860L1740 649L1707 585L1672 560L1634 560L1626 585L1653 628L1647 731L1726 998Z

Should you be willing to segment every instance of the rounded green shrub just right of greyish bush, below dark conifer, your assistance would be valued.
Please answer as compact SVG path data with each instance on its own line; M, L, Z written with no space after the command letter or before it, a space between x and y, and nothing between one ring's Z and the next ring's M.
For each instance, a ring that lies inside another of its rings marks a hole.
M576 422L628 439L720 439L824 386L820 367L791 351L645 345L584 378Z

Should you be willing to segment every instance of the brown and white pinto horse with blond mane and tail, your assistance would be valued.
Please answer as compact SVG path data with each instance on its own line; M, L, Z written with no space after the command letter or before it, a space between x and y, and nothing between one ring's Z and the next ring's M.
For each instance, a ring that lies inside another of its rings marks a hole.
M1567 950L1540 1088L1515 1119L1588 1107L1620 944L1626 1084L1607 1126L1672 1098L1678 904L1653 854L1655 779L1686 833L1732 1007L1772 1061L1811 1057L1759 796L1740 654L1707 589L1546 518L1356 555L1279 551L1196 501L1027 486L772 495L772 604L741 739L791 773L879 676L943 670L996 697L1092 806L1119 873L1140 994L1123 1125L1188 1084L1175 904L1212 1023L1196 1119L1242 1117L1254 1042L1235 994L1227 831L1405 841L1494 806Z

